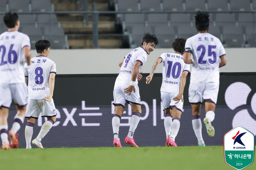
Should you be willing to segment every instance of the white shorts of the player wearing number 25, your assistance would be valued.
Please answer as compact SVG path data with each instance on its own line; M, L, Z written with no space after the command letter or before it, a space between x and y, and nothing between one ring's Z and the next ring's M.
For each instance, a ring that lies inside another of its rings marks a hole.
M203 103L210 100L216 105L219 92L219 83L190 83L188 88L188 100L191 104Z

